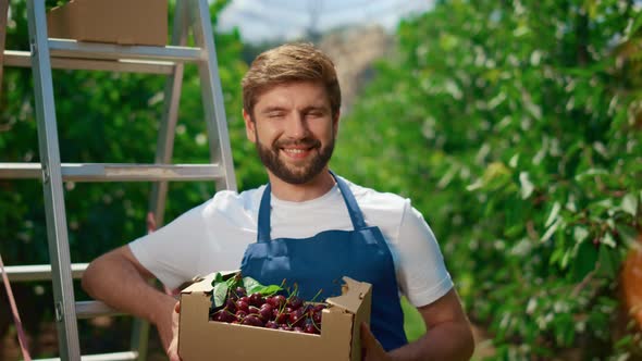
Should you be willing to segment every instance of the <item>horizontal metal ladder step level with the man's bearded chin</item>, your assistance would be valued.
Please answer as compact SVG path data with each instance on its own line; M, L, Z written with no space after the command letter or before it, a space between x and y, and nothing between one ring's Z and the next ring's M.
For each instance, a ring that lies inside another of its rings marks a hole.
M73 182L208 180L225 177L219 164L62 163ZM40 163L0 163L1 178L42 178Z

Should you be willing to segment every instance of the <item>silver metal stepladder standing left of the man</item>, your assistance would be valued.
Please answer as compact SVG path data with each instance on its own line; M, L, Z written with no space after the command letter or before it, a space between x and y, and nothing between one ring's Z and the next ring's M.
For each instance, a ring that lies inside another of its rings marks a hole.
M0 16L7 16L7 12ZM170 180L214 180L217 190L235 190L223 94L207 0L177 0L172 42L165 47L50 39L47 36L45 0L27 0L27 18L30 51L5 51L2 41L0 55L3 54L3 58L0 61L3 60L9 66L30 65L33 69L40 163L0 163L0 178L42 180L51 264L16 265L5 271L10 281L52 281L60 359L81 360L77 319L118 312L99 301L75 301L73 278L82 276L87 263L71 263L63 182L153 182L149 210L155 214L157 225L162 224ZM5 24L5 21L0 21L0 25ZM4 32L4 28L0 30ZM189 30L195 47L186 47ZM171 164L185 63L197 64L199 71L211 158L208 164ZM155 163L61 163L52 66L166 75L164 113L159 127ZM149 325L140 320L136 323L131 351L82 358L146 359Z

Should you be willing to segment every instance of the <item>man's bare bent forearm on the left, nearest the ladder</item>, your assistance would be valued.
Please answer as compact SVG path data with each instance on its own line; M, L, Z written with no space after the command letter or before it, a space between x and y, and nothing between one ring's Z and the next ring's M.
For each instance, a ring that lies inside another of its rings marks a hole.
M94 260L83 274L83 288L108 306L143 318L157 326L163 348L172 341L172 313L176 300L148 283L147 271L128 246Z

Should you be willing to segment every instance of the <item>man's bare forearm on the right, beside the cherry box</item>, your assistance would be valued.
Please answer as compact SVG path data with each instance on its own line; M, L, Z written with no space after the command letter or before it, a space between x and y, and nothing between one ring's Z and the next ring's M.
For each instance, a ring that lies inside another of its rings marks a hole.
M362 347L367 361L470 360L474 340L468 318L455 289L424 307L418 308L428 332L418 340L388 352L362 327Z

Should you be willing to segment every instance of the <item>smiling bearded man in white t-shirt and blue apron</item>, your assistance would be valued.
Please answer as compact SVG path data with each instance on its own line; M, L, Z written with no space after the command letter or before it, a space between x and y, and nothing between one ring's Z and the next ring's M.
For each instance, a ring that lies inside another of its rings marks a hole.
M196 275L240 269L262 284L298 285L311 299L341 294L343 276L372 284L365 360L468 360L468 320L432 231L410 200L332 173L341 89L332 61L311 45L260 54L243 79L248 139L269 184L222 190L153 234L89 265L83 286L97 299L152 322L171 360L176 301L151 287L176 288ZM428 333L408 343L400 295Z

